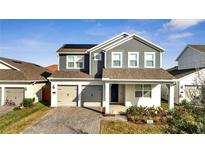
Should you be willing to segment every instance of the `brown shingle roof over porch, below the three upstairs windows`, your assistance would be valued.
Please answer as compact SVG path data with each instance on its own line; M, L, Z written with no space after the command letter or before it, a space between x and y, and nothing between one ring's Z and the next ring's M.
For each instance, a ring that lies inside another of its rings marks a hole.
M145 80L172 80L174 76L164 69L152 68L106 68L103 69L103 78L109 79L145 79Z

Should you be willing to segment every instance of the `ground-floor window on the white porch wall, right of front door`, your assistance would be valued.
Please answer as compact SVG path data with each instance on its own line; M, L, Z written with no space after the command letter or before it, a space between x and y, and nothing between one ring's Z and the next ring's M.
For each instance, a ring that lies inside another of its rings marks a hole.
M152 88L151 85L135 85L135 97L151 97Z

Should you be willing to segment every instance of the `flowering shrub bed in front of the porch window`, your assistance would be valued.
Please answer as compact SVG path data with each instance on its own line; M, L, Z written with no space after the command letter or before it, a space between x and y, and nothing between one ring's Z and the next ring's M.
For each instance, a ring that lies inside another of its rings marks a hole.
M147 120L153 120L156 123L164 123L167 113L160 107L137 107L131 106L127 109L127 119L130 122L141 124Z

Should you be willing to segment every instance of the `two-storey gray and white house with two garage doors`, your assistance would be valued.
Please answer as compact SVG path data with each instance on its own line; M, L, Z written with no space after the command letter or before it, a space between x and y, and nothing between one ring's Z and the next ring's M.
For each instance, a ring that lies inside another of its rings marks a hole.
M65 44L51 82L51 106L160 106L161 85L169 85L174 107L174 77L162 69L158 45L122 33L101 44Z

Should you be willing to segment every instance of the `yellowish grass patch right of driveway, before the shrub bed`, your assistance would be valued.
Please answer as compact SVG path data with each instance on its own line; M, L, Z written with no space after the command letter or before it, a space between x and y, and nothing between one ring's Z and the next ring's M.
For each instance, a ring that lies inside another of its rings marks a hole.
M125 121L102 120L101 134L163 134L166 125L133 124Z

